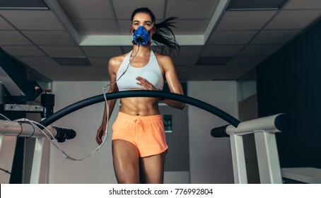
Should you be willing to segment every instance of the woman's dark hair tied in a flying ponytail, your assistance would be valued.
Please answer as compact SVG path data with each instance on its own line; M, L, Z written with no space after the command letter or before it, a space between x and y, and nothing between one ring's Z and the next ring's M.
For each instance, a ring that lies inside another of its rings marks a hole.
M136 13L148 13L148 15L151 16L153 23L156 22L156 18L149 8L136 8L132 13L132 21ZM173 20L176 18L178 17L170 17L161 23L155 23L156 32L153 34L151 42L155 45L159 45L165 54L180 53L180 45L178 45L172 30L172 28L176 28L175 25L173 25L173 23L175 23Z

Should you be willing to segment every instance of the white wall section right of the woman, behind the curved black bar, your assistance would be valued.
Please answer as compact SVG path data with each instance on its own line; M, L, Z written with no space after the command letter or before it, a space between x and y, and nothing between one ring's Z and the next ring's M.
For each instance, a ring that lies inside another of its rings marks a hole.
M191 81L188 95L238 115L235 81ZM229 138L214 138L211 129L228 124L197 107L189 107L189 161L191 183L233 183Z

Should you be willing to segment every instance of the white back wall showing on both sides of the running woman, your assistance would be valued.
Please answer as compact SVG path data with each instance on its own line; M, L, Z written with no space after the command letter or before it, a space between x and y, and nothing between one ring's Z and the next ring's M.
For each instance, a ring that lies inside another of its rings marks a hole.
M54 112L94 95L103 94L106 82L55 81ZM237 83L230 81L189 82L188 95L203 100L236 117ZM98 103L66 115L54 126L74 129L77 136L59 144L74 158L83 158L97 148L95 134L100 126L104 103ZM114 122L119 108L116 105L111 117ZM210 131L226 124L216 115L189 106L190 181L192 183L233 183L232 158L228 138L214 139ZM109 126L111 131L111 124ZM106 144L83 161L69 161L55 147L51 147L49 183L116 183L112 167L111 134ZM177 178L181 173L165 173L165 182L186 180ZM186 175L186 174L185 174ZM185 176L184 176L185 177Z

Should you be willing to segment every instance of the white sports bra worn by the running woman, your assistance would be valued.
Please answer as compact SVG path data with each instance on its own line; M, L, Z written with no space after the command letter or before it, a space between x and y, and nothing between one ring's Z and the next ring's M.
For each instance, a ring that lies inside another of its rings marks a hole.
M127 54L127 56L124 58L124 61L119 66L116 79L118 79L119 76L122 76L124 71L126 71L131 54L132 51ZM151 51L151 57L149 58L148 64L146 64L145 66L141 68L129 66L126 73L117 81L119 91L127 91L130 89L142 88L141 86L136 84L138 82L136 80L137 76L145 78L147 81L152 83L153 86L155 86L158 90L163 90L164 78L153 51Z

